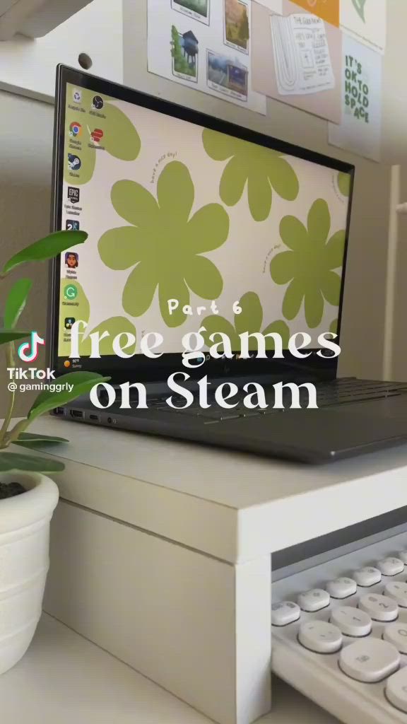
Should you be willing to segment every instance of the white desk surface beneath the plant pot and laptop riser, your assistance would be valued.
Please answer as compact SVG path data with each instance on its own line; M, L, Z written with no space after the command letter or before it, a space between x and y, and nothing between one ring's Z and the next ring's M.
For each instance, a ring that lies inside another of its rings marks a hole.
M276 680L271 714L258 724L337 724ZM28 654L0 676L7 724L211 724L62 623L44 615Z

